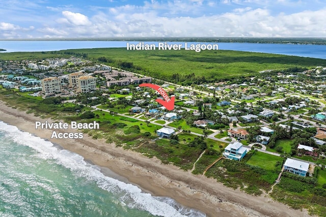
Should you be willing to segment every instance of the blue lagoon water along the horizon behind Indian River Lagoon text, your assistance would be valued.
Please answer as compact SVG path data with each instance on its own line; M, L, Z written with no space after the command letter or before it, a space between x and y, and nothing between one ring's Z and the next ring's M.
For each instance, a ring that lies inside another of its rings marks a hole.
M139 42L129 42L136 44ZM158 42L145 42L158 45ZM169 44L183 44L184 42L169 42ZM189 42L191 43L191 42ZM197 44L198 42L194 42ZM203 43L208 44L208 43ZM261 43L217 43L220 50L250 51L261 53L275 53L303 57L326 59L326 45L298 45L298 44L261 44ZM126 47L127 41L0 41L0 48L7 51L53 51L82 48L113 48ZM189 51L195 52L195 51Z

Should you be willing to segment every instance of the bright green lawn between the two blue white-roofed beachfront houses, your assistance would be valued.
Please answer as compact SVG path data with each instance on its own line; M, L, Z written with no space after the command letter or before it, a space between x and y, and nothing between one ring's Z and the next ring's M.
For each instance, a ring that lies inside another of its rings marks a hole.
M275 167L276 162L281 164L278 167ZM263 153L256 151L253 156L247 161L247 164L261 167L265 170L275 170L276 168L281 171L283 159L268 153Z

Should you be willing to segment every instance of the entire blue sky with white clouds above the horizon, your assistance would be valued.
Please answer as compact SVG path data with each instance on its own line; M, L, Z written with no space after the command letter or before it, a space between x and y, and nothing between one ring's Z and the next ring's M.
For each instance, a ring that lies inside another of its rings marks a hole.
M0 39L325 37L325 0L0 0Z

